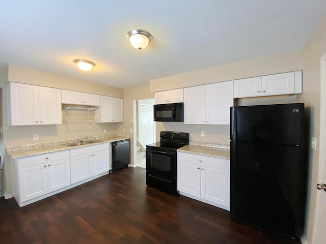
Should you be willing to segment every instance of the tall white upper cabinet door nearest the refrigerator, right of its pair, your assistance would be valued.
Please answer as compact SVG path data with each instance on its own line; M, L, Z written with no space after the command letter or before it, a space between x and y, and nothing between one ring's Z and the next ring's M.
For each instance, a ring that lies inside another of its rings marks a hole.
M206 124L230 125L233 106L233 82L206 85Z

